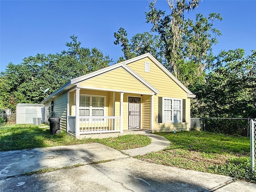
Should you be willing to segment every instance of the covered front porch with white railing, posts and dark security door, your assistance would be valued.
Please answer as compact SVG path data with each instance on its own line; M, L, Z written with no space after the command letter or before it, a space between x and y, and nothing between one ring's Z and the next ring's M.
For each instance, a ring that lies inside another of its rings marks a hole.
M68 92L67 132L89 134L151 130L154 94L75 88ZM91 136L90 136L91 137Z

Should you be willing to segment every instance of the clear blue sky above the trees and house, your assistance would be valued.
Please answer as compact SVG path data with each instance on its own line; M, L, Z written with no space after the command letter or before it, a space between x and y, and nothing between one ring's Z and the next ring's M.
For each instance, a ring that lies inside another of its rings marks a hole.
M66 42L75 34L82 46L100 49L115 62L122 55L114 45L114 32L126 29L128 38L150 31L145 21L148 0L79 0L79 1L0 1L0 71L9 62L19 64L24 57L37 53L55 54L66 49ZM169 11L165 0L156 7ZM204 0L190 15L220 13L223 20L214 27L222 32L214 53L243 48L256 49L256 1Z

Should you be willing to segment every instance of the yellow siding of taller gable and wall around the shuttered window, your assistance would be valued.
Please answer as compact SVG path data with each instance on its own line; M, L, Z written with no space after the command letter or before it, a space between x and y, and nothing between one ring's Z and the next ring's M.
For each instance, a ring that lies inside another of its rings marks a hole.
M145 61L150 62L150 72L144 72ZM186 92L149 58L132 62L128 66L159 91L159 94L154 96L154 130L188 130L190 127L190 99L187 98ZM158 97L186 99L186 122L158 123ZM149 109L147 108L147 110Z

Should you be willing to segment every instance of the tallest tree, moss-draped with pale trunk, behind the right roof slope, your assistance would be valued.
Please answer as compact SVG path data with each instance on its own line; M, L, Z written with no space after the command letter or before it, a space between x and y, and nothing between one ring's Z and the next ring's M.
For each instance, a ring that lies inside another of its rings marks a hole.
M210 14L208 18L197 14L194 23L193 20L185 18L184 12L194 10L200 0L167 0L167 2L171 14L165 15L165 11L156 9L156 2L151 2L150 9L146 12L146 22L153 25L151 31L157 32L164 42L164 56L174 76L182 80L181 76L184 75L178 65L185 60L186 65L197 65L198 70L194 75L201 79L205 68L214 60L211 47L217 43L216 36L220 35L220 31L213 28L213 22L222 18L216 13Z

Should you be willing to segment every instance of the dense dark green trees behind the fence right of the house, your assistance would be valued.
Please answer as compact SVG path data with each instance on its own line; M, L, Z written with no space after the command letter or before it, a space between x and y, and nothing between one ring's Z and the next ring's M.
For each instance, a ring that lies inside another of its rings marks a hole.
M197 84L192 116L255 118L256 51L245 56L243 49L222 51L218 67Z

